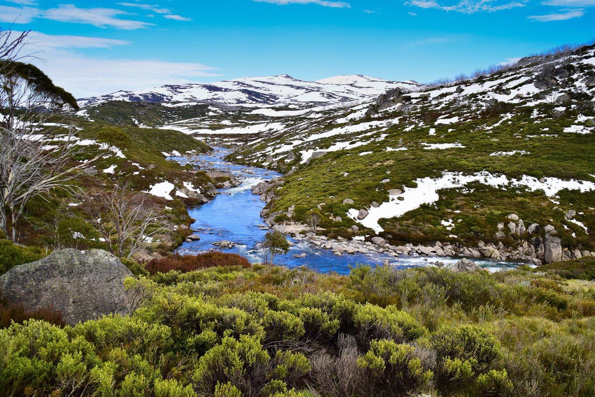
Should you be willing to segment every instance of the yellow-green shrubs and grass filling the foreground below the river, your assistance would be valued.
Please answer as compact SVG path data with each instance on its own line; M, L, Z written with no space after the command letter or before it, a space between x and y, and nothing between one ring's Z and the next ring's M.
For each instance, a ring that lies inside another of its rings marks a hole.
M202 266L202 265L201 265ZM243 265L128 280L131 317L0 330L10 395L591 396L595 289L553 270ZM55 320L58 322L58 320Z

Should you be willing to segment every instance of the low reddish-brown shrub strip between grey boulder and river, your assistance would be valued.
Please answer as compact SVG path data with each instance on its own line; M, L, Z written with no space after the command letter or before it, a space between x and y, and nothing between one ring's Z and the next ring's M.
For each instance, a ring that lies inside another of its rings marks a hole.
M250 262L237 254L225 252L207 252L201 255L172 255L161 259L154 259L145 265L151 274L167 273L170 270L180 270L184 273L206 267L241 266L250 267Z

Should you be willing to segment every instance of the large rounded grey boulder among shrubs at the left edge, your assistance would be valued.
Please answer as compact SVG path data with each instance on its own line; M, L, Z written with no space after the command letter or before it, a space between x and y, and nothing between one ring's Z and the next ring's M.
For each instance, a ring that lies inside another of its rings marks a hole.
M62 249L42 260L18 265L0 277L2 298L27 310L54 307L67 324L107 314L129 314L134 292L123 280L133 274L101 249Z

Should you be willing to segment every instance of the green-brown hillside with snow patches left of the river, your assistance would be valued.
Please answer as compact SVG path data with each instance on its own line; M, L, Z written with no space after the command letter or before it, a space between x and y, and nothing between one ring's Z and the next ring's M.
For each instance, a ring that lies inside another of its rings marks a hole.
M214 195L212 180L206 173L193 170L190 165L181 167L176 161L166 160L165 154L173 152L192 155L211 149L193 137L171 130L125 126L117 127L114 135L111 124L64 117L56 117L52 122L54 125L46 127L52 129L52 134L58 138L67 131L66 126L70 123L77 129L77 143L83 146L84 152L73 160L89 160L98 152L102 157L74 180L74 196L66 190L54 189L29 201L27 217L18 224L21 243L48 248L105 248L99 235L86 224L87 214L78 208L79 189L103 189L109 193L112 186L117 185L135 192L151 192L152 186L168 182L176 191L186 192L184 189L191 186L202 192L200 196L187 198L176 195L173 201L170 201L170 196L150 199L158 208L158 214L166 215L174 227L191 222L184 204L198 204L205 197L212 198ZM105 130L112 131L111 135L106 135ZM177 230L170 236L171 239L152 243L149 251L165 252L179 245L186 234L186 231Z

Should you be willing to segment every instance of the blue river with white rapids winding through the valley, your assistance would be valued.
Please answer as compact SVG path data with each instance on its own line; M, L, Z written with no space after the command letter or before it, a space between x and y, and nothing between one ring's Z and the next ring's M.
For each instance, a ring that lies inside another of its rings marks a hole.
M263 168L248 167L246 165L233 164L223 160L231 149L217 148L209 154L203 154L192 158L170 157L180 164L187 163L201 167L203 170L218 170L233 173L240 179L242 184L231 189L219 190L219 193L211 202L189 208L189 214L196 221L192 224L192 230L201 237L198 241L184 243L177 252L184 255L197 255L202 252L219 249L213 243L228 240L236 243L234 248L221 249L223 252L233 252L248 258L250 262L261 262L262 258L256 248L267 230L259 226L264 224L260 217L260 211L264 208L258 195L253 195L251 187L264 180L271 180L280 177L281 174ZM382 264L389 260L391 265L399 268L428 266L428 261L440 261L445 264L454 263L460 258L425 258L405 257L394 258L386 254L344 254L334 255L330 249L316 248L312 243L302 240L297 241L288 237L293 243L292 248L286 255L275 257L276 265L286 267L299 267L306 265L312 270L322 273L336 272L339 274L349 273L349 267L357 264ZM306 254L304 258L295 258L294 255ZM481 267L490 271L513 268L515 264L510 262L494 262L474 260Z

